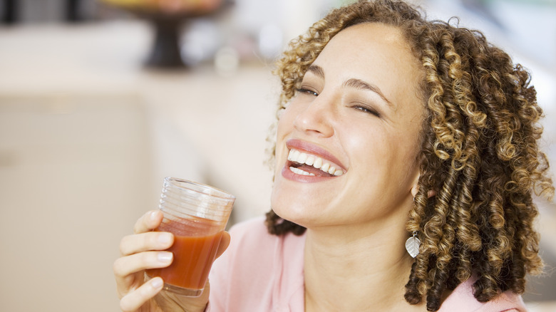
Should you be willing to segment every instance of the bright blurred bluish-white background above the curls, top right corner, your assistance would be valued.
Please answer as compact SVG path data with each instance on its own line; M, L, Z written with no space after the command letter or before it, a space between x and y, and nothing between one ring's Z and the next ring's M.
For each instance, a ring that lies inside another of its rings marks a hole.
M532 73L537 100L556 114L556 0L421 1L429 17L479 29Z

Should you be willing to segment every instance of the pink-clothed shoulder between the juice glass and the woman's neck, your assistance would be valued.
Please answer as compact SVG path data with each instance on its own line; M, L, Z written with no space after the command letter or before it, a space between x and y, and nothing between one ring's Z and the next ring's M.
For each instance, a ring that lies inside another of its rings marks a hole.
M235 224L230 239L210 271L211 311L302 306L294 294L303 289L303 236L269 234L264 217L258 217Z

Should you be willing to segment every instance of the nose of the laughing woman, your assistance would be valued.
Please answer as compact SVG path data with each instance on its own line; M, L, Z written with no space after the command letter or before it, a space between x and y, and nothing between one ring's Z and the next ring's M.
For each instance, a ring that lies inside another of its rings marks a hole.
M302 108L294 119L294 128L309 135L334 135L334 108L331 99L318 95L311 103L300 106Z

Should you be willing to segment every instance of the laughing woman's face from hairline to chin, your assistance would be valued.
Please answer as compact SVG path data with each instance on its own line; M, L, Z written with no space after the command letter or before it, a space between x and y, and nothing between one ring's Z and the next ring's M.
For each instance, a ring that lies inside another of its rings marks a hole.
M422 77L397 28L359 24L334 36L279 120L274 211L309 228L406 218Z

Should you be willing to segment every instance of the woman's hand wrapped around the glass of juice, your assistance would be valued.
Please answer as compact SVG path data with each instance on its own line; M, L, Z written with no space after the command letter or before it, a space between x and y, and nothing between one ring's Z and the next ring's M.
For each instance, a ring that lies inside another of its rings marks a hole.
M120 242L120 258L113 266L120 308L125 312L204 311L210 292L208 282L202 295L192 298L161 291L164 281L160 277L144 281L145 269L163 268L173 260L173 254L164 251L172 246L173 234L153 232L162 219L163 214L158 210L144 214L135 223L134 234L125 236ZM230 234L225 232L217 256L229 244Z

